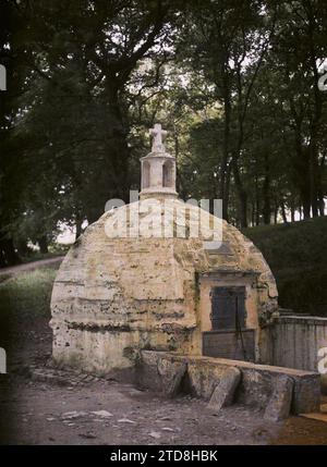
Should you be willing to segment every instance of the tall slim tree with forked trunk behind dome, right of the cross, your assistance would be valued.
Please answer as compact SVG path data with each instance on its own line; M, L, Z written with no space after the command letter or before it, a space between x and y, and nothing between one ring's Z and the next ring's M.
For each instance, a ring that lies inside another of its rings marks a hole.
M233 176L240 223L246 226L246 191L239 163L249 100L274 30L275 11L263 12L262 2L253 1L206 1L195 2L194 7L197 8L190 15L191 34L184 40L184 48L190 50L194 70L201 71L211 84L222 110L222 157L217 180L223 217L228 219Z

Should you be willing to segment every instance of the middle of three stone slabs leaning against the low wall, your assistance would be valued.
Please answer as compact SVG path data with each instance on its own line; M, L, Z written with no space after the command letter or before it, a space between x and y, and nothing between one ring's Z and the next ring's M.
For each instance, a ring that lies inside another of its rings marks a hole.
M238 368L229 368L215 388L208 408L219 411L233 403L235 390L241 381L241 371Z

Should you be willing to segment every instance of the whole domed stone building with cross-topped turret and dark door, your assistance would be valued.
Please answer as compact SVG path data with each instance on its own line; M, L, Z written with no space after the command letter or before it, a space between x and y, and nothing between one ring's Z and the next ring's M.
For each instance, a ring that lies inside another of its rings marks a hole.
M105 212L60 267L53 358L98 373L133 367L140 349L265 362L270 269L235 228L178 199L166 132L152 134L141 199Z

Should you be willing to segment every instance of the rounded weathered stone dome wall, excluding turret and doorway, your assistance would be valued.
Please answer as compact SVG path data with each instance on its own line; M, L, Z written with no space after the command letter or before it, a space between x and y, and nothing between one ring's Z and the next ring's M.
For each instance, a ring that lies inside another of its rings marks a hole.
M208 253L203 242L210 239L213 216L187 206L185 218L185 205L174 199L166 200L165 209L172 224L165 220L164 228L158 222L162 202L154 199L106 212L71 248L51 299L57 361L107 373L132 367L140 348L201 355L208 319L202 302L208 288L201 293L199 279L205 275L216 285L235 278L247 287L247 323L256 329L259 358L258 322L277 309L275 280L263 256L225 221L223 248ZM144 220L153 224L153 237L146 229L121 237L124 214L133 228ZM207 232L192 237L192 222L199 214L207 217ZM171 228L171 237L162 238L161 228Z

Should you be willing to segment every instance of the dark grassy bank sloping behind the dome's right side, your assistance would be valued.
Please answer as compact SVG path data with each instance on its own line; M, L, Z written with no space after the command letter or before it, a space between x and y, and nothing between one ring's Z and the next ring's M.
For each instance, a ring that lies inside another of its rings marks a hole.
M279 303L327 316L327 217L243 233L262 250L277 280Z

